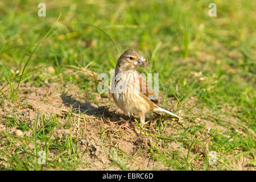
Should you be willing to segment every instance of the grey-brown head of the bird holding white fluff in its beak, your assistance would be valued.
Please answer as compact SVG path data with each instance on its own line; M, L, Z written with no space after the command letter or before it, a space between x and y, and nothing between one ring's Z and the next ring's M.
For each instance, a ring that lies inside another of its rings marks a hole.
M147 66L146 59L144 59L143 56L140 56L134 49L128 49L123 52L117 61L117 67L123 71Z

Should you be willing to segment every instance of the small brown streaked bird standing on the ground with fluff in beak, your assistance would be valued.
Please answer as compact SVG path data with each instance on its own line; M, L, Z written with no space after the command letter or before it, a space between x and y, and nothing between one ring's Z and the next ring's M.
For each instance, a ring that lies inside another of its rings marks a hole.
M148 113L167 113L182 119L159 105L153 90L137 70L138 67L147 66L146 59L135 49L127 49L122 53L115 66L110 87L115 104L125 115L139 117L142 127L145 124L145 115Z

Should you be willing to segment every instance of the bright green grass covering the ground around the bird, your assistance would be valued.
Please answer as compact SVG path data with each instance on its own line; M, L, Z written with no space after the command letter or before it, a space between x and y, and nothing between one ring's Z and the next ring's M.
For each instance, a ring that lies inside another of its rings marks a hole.
M93 61L89 70L109 74L120 53L135 48L150 63L139 70L159 73L163 106L175 113L181 110L185 119L156 119L155 133L143 132L161 147L142 146L134 155L105 146L109 136L121 139L122 131L110 134L101 129L98 137L111 161L104 168L132 169L135 157L143 156L141 150L175 170L237 169L231 162L241 156L248 158L247 164L255 160L254 1L215 1L217 17L208 15L212 1L45 2L46 17L37 15L40 1L0 2L0 109L5 103L22 107L20 84L39 88L54 82L77 85L77 93L86 100L109 107L110 102L96 99L97 77L67 73L67 68ZM54 68L50 73L49 67ZM67 91L65 84L61 89ZM0 131L0 169L75 170L91 165L91 160L81 158L88 153L79 145L84 136L53 137L56 130L73 130L80 122L73 111L51 117L39 112L36 130L15 111L0 117L7 129L34 133L16 137L9 130ZM218 127L207 131L207 122ZM36 162L40 150L46 152L46 166ZM220 154L217 166L208 164L207 150Z

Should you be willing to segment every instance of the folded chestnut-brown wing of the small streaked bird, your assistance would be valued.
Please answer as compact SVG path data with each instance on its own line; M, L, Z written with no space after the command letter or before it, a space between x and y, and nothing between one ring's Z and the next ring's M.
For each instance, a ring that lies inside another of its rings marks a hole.
M139 91L142 94L146 95L152 102L155 102L155 104L158 104L158 98L154 94L154 91L147 84L147 81L142 77L141 73L138 72L138 74L139 74L139 88L140 88Z

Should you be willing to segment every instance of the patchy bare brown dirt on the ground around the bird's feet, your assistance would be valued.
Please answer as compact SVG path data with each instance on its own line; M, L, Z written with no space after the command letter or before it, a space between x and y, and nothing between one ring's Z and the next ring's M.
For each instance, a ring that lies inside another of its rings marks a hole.
M55 114L57 118L59 118L60 127L57 127L57 129L53 131L52 137L62 138L63 136L69 136L71 134L72 137L79 138L78 148L79 151L85 152L85 155L81 155L81 157L89 163L89 166L86 168L88 170L119 170L120 167L110 165L111 156L108 156L108 154L110 154L110 151L113 149L112 146L118 147L130 156L134 156L139 151L135 161L131 162L131 159L126 160L127 167L134 170L172 170L172 168L166 167L163 163L152 160L148 152L150 144L157 146L160 151L163 152L168 152L170 148L171 150L177 150L180 156L183 156L179 145L175 141L167 142L169 147L164 147L156 138L146 137L145 135L139 137L139 131L135 129L135 127L120 128L119 125L123 123L120 117L127 117L115 106L112 98L103 98L98 93L90 93L94 94L96 98L96 100L92 102L86 100L86 96L89 93L79 94L77 90L79 90L79 88L76 85L65 84L63 82L46 83L38 88L30 86L29 84L21 84L18 100L15 102L6 100L3 106L0 105L0 117L2 121L6 118L13 118L13 116L15 116L17 120L26 119L30 122L30 127L32 127L38 113L41 115L44 114L46 118L50 118ZM160 97L160 102L162 100L163 99ZM191 97L184 107L192 107L195 105L195 100L196 98ZM176 103L170 98L167 100L167 105L171 105L173 109L176 109ZM74 117L73 125L71 129L64 129L64 127L61 126L64 126L64 123L67 121L65 115L71 113L72 110ZM183 115L183 111L181 111L180 115ZM154 118L149 119L151 119L152 122L148 124L148 131L154 134L156 132L153 126L156 125L156 121ZM195 123L178 123L171 118L167 119L169 121L168 126L172 126L171 128L167 127L166 134L168 136L179 137L179 134L177 134L181 132L179 126L187 125L188 128L191 125L195 125ZM225 130L224 127L204 119L196 118L195 121L198 122L197 124L205 123L205 135L195 134L195 138L200 138L200 140L208 139L207 131L212 127ZM133 124L135 125L134 122ZM40 125L40 120L38 125ZM83 128L86 128L86 130L82 137ZM1 122L0 130L15 134L16 128L11 128L6 126L4 122ZM102 143L101 133L104 133L102 136L105 136L104 143ZM24 135L32 137L32 130L25 132ZM106 152L104 150L104 144ZM199 153L201 157L204 156L204 150L207 150L207 144L195 144L191 152L191 158L196 152ZM183 151L185 155L187 155L188 148L183 147ZM54 152L50 152L50 155L54 155L53 153ZM196 168L203 169L204 159L196 158L192 164L197 166ZM234 164L234 166L237 165ZM82 170L84 168L79 167L78 169ZM246 170L249 168L243 165L242 167L237 167L237 169Z

